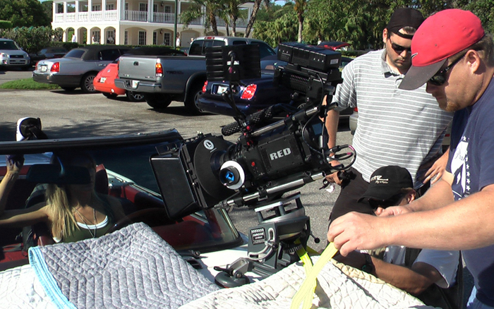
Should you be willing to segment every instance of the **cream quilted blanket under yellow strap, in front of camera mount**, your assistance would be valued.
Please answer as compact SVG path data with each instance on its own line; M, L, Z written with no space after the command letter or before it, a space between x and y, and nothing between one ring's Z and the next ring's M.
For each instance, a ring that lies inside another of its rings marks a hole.
M317 259L313 257L313 262ZM212 292L180 309L287 309L305 277L301 263L292 264L262 281ZM312 308L430 307L370 274L332 260L318 275Z

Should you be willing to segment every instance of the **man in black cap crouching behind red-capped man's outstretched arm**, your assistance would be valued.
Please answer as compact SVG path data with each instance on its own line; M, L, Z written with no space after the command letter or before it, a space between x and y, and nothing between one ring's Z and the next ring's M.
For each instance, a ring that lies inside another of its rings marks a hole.
M359 200L367 202L375 214L380 214L387 207L407 205L415 200L413 185L409 171L403 167L383 166L370 176L368 189ZM381 258L352 251L347 257L338 255L335 260L369 272L411 293L426 305L462 308L463 282L461 279L455 282L459 251L387 246Z

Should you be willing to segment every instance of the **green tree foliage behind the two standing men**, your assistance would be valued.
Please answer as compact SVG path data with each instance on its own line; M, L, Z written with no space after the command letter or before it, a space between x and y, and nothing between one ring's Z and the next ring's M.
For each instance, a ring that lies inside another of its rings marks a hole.
M293 7L299 2L288 1L285 7ZM349 42L354 49L382 48L382 30L394 10L400 7L416 8L424 17L445 8L463 8L474 12L488 32L494 32L494 0L310 0L306 3L301 40L311 44L332 40ZM285 29L284 35L276 31L288 16L276 16L268 11L261 12L260 16L261 19L268 16L270 21L258 20L254 37L271 44L296 40ZM296 24L299 20L300 16L291 22Z

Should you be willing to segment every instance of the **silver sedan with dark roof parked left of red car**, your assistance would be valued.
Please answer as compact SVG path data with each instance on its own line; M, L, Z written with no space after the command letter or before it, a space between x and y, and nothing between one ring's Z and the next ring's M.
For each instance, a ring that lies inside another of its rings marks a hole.
M38 83L56 84L66 91L77 87L86 93L96 92L93 80L109 63L128 52L128 47L89 45L71 49L64 58L37 63L32 79Z

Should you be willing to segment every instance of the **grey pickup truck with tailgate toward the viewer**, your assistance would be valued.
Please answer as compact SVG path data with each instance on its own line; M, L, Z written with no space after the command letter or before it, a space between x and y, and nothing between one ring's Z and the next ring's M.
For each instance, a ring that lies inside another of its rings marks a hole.
M258 44L260 57L276 54L265 42L245 37L198 37L188 56L121 56L116 87L143 92L150 107L163 109L171 101L184 102L199 114L198 99L206 81L205 49L226 45Z

